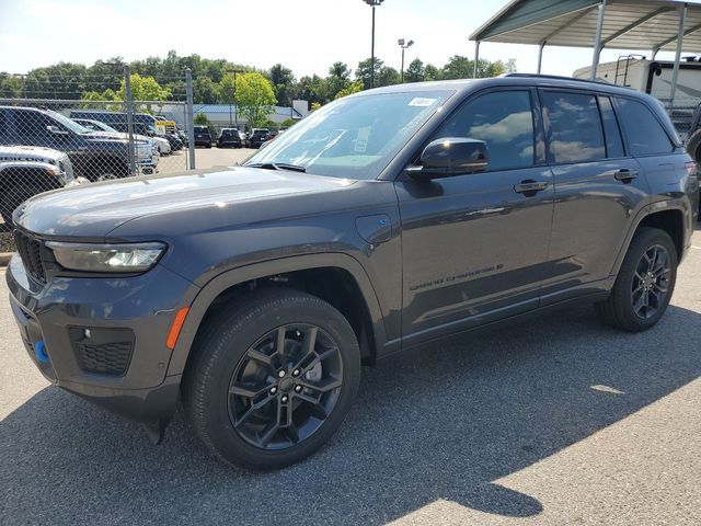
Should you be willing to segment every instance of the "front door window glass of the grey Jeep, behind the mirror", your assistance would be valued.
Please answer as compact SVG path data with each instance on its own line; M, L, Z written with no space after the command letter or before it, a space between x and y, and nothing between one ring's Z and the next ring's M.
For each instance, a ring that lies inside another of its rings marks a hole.
M533 116L528 91L502 91L464 104L434 136L486 142L487 171L533 165Z

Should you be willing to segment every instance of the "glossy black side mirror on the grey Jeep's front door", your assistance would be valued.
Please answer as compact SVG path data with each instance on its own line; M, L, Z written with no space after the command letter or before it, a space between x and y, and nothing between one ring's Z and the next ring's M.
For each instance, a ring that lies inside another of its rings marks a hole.
M421 155L420 164L406 168L405 172L417 181L428 181L483 172L489 161L490 153L483 140L445 137L429 142Z

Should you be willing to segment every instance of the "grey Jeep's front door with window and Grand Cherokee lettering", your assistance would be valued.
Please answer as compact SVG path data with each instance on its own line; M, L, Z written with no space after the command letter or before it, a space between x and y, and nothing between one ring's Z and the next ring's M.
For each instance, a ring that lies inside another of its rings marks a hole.
M553 185L535 102L528 89L475 95L432 138L484 140L486 171L397 182L406 344L538 305Z

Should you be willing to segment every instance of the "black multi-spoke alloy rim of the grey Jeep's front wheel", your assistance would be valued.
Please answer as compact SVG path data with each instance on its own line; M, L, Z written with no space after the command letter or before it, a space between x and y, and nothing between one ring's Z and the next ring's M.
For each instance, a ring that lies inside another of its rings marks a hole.
M235 433L262 449L286 449L309 438L341 393L343 362L321 328L296 323L258 339L237 365L228 392Z

